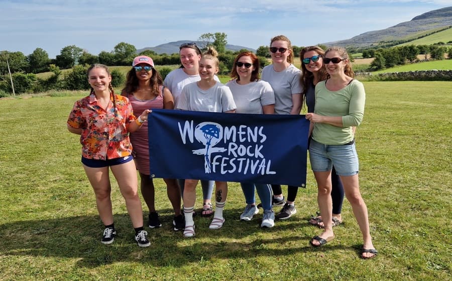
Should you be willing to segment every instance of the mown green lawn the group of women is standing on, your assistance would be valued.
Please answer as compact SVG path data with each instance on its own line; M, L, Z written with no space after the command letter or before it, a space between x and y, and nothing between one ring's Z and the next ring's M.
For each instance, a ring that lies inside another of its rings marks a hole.
M132 241L112 181L119 236L102 245L78 136L66 129L73 103L86 94L80 93L0 100L0 280L450 280L452 82L364 84L357 149L377 258L359 258L361 234L347 201L336 238L309 246L320 233L307 223L317 210L309 168L293 218L272 229L259 227L262 211L239 222L244 198L230 183L224 227L208 230L209 219L195 217L193 239L172 231L157 179L163 227L147 229L152 244L145 249Z

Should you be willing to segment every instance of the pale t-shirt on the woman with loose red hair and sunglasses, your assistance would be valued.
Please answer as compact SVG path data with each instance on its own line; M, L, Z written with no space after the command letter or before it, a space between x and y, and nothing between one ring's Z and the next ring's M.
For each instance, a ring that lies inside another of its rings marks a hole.
M263 106L275 104L275 92L266 81L259 80L241 85L237 80L232 80L226 85L232 91L237 106L236 113L263 114Z

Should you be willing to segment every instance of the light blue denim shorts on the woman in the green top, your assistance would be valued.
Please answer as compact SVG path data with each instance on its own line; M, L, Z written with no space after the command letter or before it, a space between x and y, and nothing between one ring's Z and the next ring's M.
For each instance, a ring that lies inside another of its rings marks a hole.
M334 168L338 175L358 174L360 165L355 142L352 144L329 145L311 140L309 159L314 172L325 172Z

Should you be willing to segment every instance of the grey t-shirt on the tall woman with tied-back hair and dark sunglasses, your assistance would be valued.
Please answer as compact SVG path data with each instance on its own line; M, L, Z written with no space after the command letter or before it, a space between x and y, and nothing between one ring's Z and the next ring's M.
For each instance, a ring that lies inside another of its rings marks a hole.
M262 69L262 80L267 81L275 91L275 113L290 114L293 108L292 95L300 95L301 71L290 64L281 72L276 72L273 65L267 65Z

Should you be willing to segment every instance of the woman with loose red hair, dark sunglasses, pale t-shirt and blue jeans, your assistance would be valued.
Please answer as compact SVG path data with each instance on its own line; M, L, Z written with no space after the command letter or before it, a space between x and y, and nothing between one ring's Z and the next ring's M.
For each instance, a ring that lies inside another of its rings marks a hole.
M226 85L231 89L237 109L236 113L274 114L275 93L272 86L259 80L259 58L252 52L242 52L234 60L231 77ZM247 206L240 215L243 221L250 221L259 210L255 203L255 189L262 202L264 216L261 227L273 227L275 214L272 209L272 190L270 184L241 182Z

